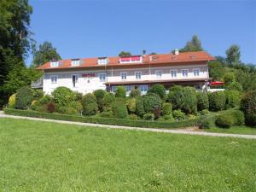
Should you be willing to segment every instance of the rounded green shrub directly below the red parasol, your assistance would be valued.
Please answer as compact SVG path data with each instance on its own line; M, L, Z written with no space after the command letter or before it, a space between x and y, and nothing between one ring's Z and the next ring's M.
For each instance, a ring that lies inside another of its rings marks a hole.
M226 97L223 91L211 93L208 95L208 98L211 111L220 111L225 108Z

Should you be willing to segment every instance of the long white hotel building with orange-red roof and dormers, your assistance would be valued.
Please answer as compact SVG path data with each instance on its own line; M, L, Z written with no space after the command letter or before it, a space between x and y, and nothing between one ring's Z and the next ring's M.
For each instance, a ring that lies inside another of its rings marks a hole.
M66 86L83 94L102 89L114 91L124 85L127 94L133 88L146 93L152 84L194 86L202 90L209 80L207 62L214 57L205 51L165 55L131 55L49 61L38 69L44 71L43 87L50 94L58 86Z

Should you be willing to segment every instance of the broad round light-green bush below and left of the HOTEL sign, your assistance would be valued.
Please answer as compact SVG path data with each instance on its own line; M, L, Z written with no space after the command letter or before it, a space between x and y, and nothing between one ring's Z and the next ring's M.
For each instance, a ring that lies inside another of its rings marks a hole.
M52 92L52 96L54 97L55 103L64 107L67 107L70 102L73 102L76 99L76 94L67 87L57 87Z

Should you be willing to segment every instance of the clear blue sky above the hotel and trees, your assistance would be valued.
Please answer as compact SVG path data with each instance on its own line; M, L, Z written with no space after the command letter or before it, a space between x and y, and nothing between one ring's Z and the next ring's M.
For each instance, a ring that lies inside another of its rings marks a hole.
M211 55L241 47L241 60L256 64L256 1L31 0L31 31L51 42L62 58L169 53L196 34ZM27 65L32 56L27 58Z

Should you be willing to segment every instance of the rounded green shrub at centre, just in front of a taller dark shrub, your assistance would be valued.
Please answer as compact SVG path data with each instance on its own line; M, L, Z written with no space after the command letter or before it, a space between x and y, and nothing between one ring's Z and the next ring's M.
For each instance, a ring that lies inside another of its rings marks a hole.
M152 113L155 107L161 106L160 96L156 94L143 96L143 106L146 113Z

